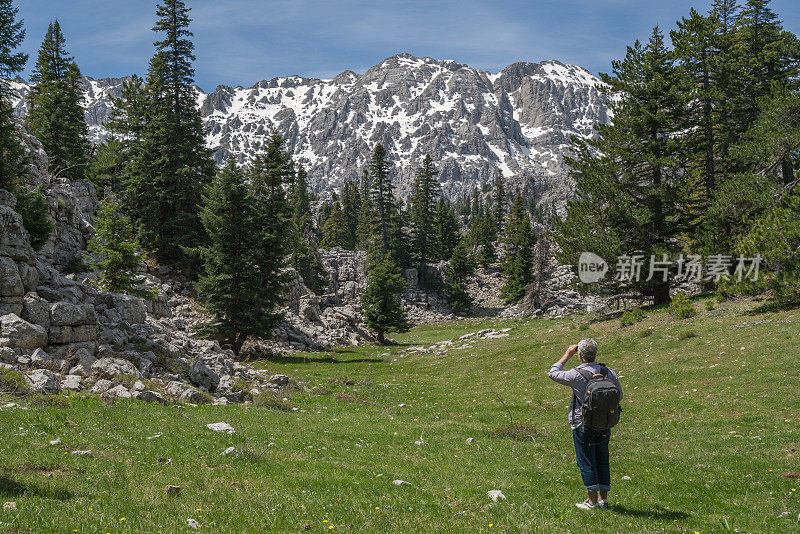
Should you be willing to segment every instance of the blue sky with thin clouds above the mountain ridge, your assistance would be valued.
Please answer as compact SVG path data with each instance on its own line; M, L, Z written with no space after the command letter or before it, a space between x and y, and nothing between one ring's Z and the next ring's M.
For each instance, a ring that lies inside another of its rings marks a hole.
M95 78L144 74L153 53L155 0L17 0L30 74L47 24ZM498 71L515 61L558 59L607 72L625 46L659 24L674 27L710 0L187 0L197 83L245 85L275 76L364 72L399 52ZM773 0L800 33L800 2Z

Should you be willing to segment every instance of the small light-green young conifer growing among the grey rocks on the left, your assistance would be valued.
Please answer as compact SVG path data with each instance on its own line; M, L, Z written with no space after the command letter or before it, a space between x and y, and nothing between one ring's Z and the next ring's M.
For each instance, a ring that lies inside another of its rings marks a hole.
M108 291L152 297L146 290L137 288L144 281L137 274L139 243L133 223L121 212L113 196L107 196L100 204L94 226L96 234L88 248L97 255L90 265L99 271L100 285Z

